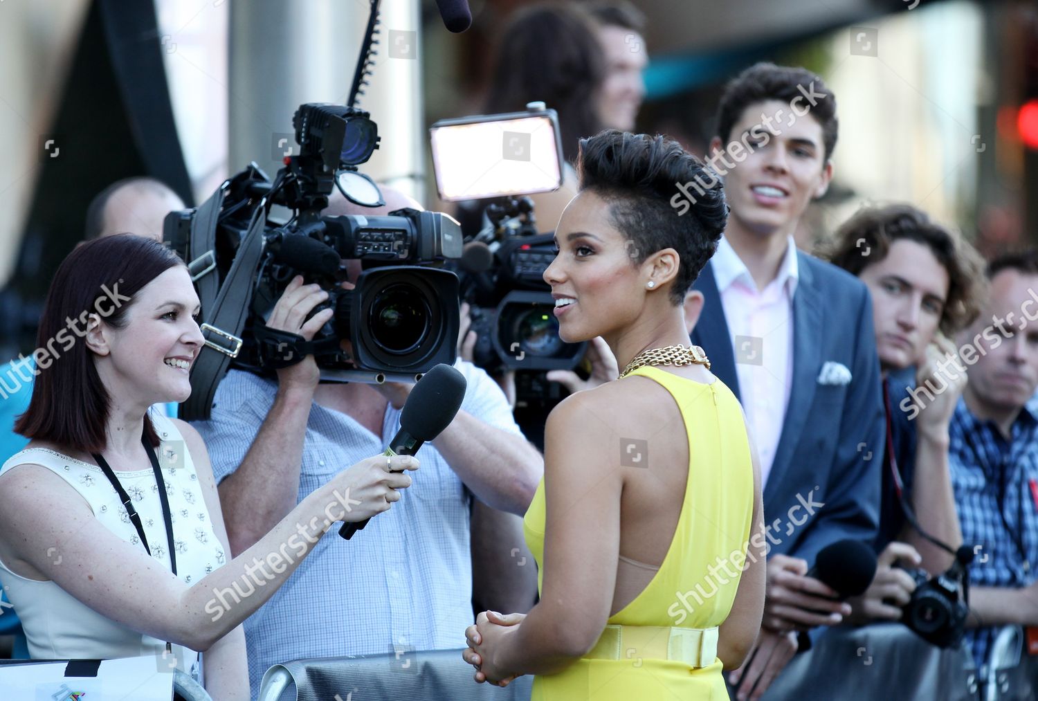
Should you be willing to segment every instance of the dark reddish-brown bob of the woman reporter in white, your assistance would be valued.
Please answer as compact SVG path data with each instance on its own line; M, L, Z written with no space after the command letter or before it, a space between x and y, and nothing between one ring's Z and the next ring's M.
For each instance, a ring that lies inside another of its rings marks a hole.
M140 290L184 262L158 241L131 234L108 236L77 246L54 274L36 336L36 379L29 408L15 431L62 448L104 451L112 398L86 347L88 318L125 328L127 311ZM120 301L129 297L130 301ZM57 347L60 346L60 347ZM151 419L144 433L159 444Z

